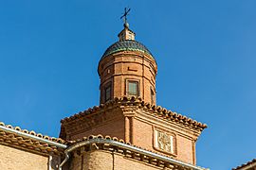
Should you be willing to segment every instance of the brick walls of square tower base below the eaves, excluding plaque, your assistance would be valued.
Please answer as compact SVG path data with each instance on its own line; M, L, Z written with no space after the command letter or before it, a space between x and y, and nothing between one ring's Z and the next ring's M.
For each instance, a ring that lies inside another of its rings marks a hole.
M95 113L97 114L97 113ZM122 110L107 110L103 118L103 122L96 126L91 126L87 129L80 129L84 127L83 124L88 122L96 122L91 117L76 120L76 123L69 123L66 127L68 132L68 139L76 140L90 135L102 134L110 135L111 137L118 137L125 142L135 144L145 149L149 149L166 156L189 162L196 163L195 159L195 141L200 134L192 127L185 127L175 122L162 120L160 117L155 117L149 111L137 110L133 106L124 106ZM109 119L109 120L108 120ZM155 129L164 133L174 135L174 153L162 151L155 147Z

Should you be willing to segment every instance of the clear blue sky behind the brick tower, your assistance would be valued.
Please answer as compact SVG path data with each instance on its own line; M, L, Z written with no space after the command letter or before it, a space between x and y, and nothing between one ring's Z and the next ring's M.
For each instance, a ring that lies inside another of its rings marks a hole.
M157 60L157 105L209 126L198 165L256 158L255 0L0 1L1 121L57 137L61 119L98 105L124 7Z

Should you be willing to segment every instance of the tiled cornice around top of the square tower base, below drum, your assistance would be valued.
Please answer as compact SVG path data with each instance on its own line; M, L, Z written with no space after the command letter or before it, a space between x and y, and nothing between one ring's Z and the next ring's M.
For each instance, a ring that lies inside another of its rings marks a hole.
M127 110L127 111L131 109L144 110L147 113L152 114L158 119L165 120L165 121L172 121L172 122L175 122L176 124L183 125L186 127L191 127L199 131L202 131L204 128L207 127L206 124L202 124L200 122L192 120L191 118L188 118L186 116L173 112L172 110L166 110L160 106L155 106L149 103L145 103L144 101L142 101L140 97L129 98L126 96L120 97L120 98L116 97L114 100L111 100L105 104L101 104L100 106L93 107L92 109L84 110L70 117L66 117L63 120L61 120L61 123L63 125L72 123L76 120L87 118L91 115L98 114L105 110L112 110L113 108L119 108L121 110Z

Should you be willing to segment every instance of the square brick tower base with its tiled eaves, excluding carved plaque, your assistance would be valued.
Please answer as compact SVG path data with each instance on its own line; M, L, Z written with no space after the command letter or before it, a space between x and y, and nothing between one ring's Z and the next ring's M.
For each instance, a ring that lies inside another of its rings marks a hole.
M195 141L205 127L171 110L147 104L141 98L125 96L64 118L61 137L76 140L99 133L116 136L127 143L195 164ZM155 129L173 134L173 153L154 147Z

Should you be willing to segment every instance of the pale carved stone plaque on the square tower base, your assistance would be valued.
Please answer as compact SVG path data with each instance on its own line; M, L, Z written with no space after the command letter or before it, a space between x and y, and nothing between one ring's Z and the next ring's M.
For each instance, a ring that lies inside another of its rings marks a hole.
M174 135L155 129L155 149L174 154Z

